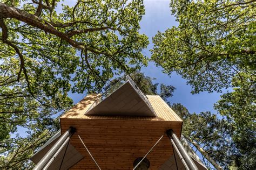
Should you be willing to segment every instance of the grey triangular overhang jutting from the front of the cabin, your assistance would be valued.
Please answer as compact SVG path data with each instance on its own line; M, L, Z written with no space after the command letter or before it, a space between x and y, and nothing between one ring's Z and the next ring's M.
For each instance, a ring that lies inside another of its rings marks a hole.
M130 76L125 76L107 90L85 115L156 117L149 100Z

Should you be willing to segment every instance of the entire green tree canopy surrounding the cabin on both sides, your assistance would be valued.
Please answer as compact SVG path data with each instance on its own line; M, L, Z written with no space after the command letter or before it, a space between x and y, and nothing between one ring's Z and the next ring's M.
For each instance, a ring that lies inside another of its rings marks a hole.
M233 89L214 115L171 105L173 86L133 73L148 60L142 49L149 41L139 34L143 1L0 2L0 168L33 167L28 159L73 104L68 93L98 93L118 81L113 77L133 73L145 94L171 105L185 138L215 168L255 169L255 5L171 0L179 26L153 38L151 60L186 79L193 94Z

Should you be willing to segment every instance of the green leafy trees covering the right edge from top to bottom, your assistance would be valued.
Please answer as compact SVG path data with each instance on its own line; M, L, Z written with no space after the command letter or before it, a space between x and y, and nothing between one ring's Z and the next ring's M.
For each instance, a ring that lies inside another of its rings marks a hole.
M256 148L255 5L250 0L172 0L179 26L158 32L152 49L152 60L165 73L180 74L192 93L233 88L215 109L235 127L232 138L240 157L235 166L244 169Z

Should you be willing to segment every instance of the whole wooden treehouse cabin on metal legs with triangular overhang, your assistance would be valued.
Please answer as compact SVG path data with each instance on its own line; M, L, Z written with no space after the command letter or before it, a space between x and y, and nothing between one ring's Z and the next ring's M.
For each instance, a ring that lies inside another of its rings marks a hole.
M60 117L61 129L31 158L35 169L206 169L181 136L182 120L129 76Z

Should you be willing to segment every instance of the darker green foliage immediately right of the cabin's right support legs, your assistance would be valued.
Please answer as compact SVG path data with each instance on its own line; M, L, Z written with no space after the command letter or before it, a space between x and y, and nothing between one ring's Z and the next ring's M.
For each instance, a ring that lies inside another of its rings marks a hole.
M183 136L207 158L214 159L219 165L228 167L233 164L233 155L237 148L232 141L234 126L225 119L219 119L211 112L190 114L181 105L173 104L171 108L183 119Z

